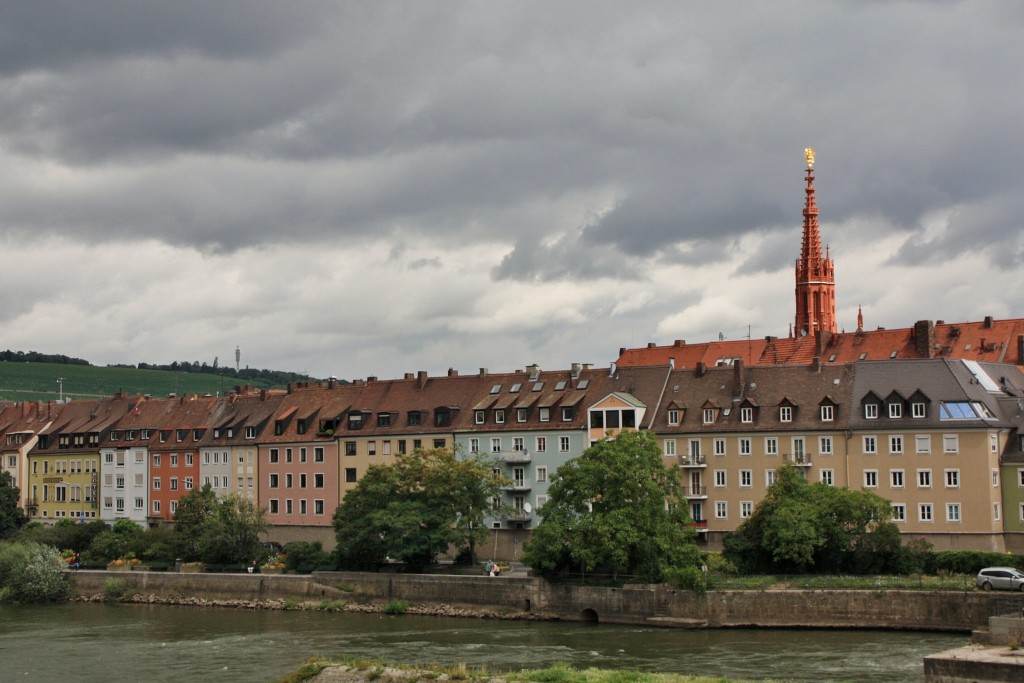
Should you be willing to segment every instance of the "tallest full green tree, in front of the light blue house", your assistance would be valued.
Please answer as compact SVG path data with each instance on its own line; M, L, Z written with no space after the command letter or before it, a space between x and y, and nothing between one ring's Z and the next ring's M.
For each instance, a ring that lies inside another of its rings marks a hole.
M548 577L583 569L651 582L697 565L687 506L663 461L652 434L622 432L559 467L523 561Z

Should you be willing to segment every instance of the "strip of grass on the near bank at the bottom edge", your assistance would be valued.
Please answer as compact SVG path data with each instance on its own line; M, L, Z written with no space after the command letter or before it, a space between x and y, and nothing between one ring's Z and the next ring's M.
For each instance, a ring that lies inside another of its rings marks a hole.
M313 657L305 661L298 671L281 679L280 683L301 683L317 676L328 667L349 667L366 672L368 681L379 679L387 667L377 659L346 656L337 661ZM418 679L436 680L441 676L453 681L485 681L500 678L505 681L530 683L751 683L740 679L717 676L681 676L679 674L654 674L632 670L574 669L566 664L556 664L547 669L531 669L514 672L488 672L485 668L470 669L465 664L442 667L438 665L417 665L397 667L411 672L409 681ZM415 672L415 675L413 674ZM401 680L400 678L397 680ZM760 683L770 683L763 679Z

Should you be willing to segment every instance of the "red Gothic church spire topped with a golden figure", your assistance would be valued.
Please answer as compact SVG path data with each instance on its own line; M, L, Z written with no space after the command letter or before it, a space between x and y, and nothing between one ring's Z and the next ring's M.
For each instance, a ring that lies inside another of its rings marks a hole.
M836 271L825 249L821 255L818 207L814 203L814 150L804 150L807 160L807 202L804 205L804 242L797 259L798 335L818 331L836 333Z

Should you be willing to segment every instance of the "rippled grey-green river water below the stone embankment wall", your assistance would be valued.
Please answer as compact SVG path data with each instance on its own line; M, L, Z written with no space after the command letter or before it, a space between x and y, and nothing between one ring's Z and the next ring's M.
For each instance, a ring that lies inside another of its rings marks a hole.
M783 681L923 681L967 635L672 630L346 612L100 605L0 607L0 680L273 681L307 657L489 671L572 666Z

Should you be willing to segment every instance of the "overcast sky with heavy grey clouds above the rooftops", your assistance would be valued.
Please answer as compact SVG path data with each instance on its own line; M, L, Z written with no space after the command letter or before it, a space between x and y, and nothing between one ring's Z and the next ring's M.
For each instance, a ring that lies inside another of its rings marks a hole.
M1024 316L1024 3L0 10L0 347L400 377Z

